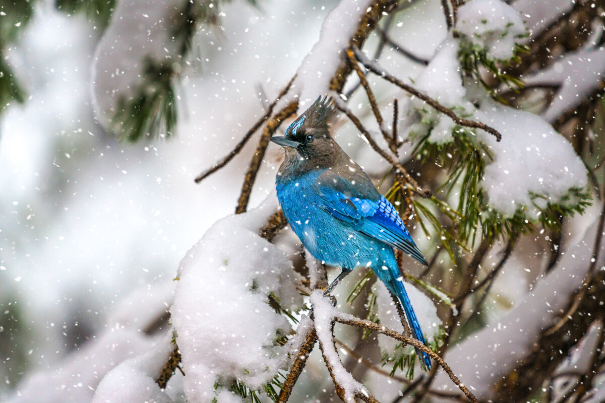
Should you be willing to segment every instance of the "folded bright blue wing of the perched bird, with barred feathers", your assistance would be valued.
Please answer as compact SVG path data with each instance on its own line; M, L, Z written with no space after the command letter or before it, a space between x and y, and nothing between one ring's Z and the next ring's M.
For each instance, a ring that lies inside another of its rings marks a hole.
M384 196L377 200L347 197L332 187L320 189L325 210L359 232L381 240L410 255L424 265L427 260L416 247L397 210ZM378 193L378 192L377 192Z

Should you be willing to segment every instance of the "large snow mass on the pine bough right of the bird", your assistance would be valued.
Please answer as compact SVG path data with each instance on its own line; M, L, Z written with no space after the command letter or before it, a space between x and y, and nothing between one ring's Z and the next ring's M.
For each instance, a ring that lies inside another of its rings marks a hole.
M495 103L473 83L463 85L457 45L451 37L445 40L416 80L416 87L459 116L471 115L502 134L500 142L483 131L477 135L494 157L493 163L488 161L481 181L489 206L506 217L526 207L528 216L536 219L549 202L564 204L572 187L586 186L586 169L571 144L537 115ZM406 131L412 138L418 139L432 129L428 138L431 143L453 140L453 131L459 126L451 118L414 98L409 105ZM573 198L568 201L574 202Z

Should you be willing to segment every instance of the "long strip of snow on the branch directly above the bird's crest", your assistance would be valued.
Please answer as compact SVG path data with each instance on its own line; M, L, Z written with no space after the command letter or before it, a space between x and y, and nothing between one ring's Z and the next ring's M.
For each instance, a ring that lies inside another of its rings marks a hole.
M344 51L359 19L372 3L372 0L342 0L325 18L318 42L296 71L293 89L300 91L301 109L329 91L330 80L347 57Z

